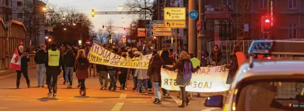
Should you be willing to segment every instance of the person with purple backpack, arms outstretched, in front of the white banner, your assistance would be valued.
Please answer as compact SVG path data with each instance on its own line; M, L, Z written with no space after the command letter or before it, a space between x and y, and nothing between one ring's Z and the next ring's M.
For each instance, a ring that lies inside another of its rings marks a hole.
M182 104L178 107L186 107L189 104L189 98L187 98L186 86L190 85L192 73L198 71L200 66L194 68L190 61L191 57L188 55L187 52L183 51L180 54L180 57L177 63L173 66L166 66L163 65L162 68L167 70L174 71L178 69L176 84L179 86L181 93L182 93Z

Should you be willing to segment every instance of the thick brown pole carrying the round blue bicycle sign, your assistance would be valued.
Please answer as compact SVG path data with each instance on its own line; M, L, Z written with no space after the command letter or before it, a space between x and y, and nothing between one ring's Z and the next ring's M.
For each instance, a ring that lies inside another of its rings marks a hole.
M196 1L189 1L189 11L191 10L196 10ZM193 52L193 53L197 53L196 51L196 33L197 33L197 29L196 29L196 22L195 20L191 19L190 16L188 17L188 52Z

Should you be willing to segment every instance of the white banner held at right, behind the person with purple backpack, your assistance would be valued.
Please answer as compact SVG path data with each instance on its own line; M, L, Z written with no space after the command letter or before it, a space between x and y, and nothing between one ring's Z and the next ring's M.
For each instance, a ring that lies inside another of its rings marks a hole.
M190 92L222 92L227 91L230 85L226 84L229 69L225 66L201 67L192 73L191 84L186 86ZM161 68L161 88L179 91L176 85L178 70L170 71Z

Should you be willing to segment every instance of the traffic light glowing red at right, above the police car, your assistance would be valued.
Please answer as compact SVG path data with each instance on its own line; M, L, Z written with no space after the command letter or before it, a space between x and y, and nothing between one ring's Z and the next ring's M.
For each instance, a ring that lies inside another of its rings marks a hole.
M261 17L261 32L268 33L272 28L272 19L270 16L262 16Z

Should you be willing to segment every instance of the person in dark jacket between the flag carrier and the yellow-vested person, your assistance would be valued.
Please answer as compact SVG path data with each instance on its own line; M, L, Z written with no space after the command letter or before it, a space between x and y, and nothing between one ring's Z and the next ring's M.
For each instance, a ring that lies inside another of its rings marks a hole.
M37 64L37 82L38 82L38 87L44 88L44 82L45 82L45 63L44 59L46 56L46 46L41 45L41 48L36 52L34 60Z

